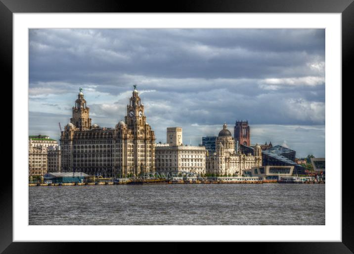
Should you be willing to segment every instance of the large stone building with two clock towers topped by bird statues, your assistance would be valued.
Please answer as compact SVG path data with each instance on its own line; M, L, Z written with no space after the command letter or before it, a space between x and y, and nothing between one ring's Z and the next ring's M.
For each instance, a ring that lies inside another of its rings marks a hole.
M115 128L91 125L80 88L70 123L61 131L61 170L119 177L155 171L155 134L146 123L136 85L125 121Z

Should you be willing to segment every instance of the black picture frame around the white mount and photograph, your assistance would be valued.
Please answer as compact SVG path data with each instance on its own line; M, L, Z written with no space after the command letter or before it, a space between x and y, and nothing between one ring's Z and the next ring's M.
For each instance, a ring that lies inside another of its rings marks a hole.
M353 0L178 0L153 3L120 0L0 0L0 54L3 82L12 84L12 14L41 12L272 12L272 13L342 13L342 84L353 84L351 66L354 59L354 3ZM343 87L342 84L339 86ZM343 88L342 88L343 89ZM12 94L13 95L13 94ZM13 95L14 96L14 95ZM342 100L343 101L343 100ZM341 126L341 125L340 125ZM15 133L12 133L13 135ZM338 148L338 149L342 149ZM342 149L343 155L346 151ZM342 158L343 158L342 155ZM347 155L348 156L348 155ZM346 157L344 157L346 158ZM341 170L342 162L338 162ZM344 167L343 167L344 169ZM350 172L350 170L347 170ZM232 243L237 248L263 253L353 253L354 200L351 177L342 178L342 242L290 243ZM19 243L12 242L12 175L0 184L0 251L3 253L63 253L80 250L100 252L112 248L113 243ZM281 232L279 232L281 233ZM136 245L117 243L120 248L149 249L152 243ZM210 249L203 243L198 250ZM114 245L116 245L114 243ZM166 247L160 245L166 252ZM175 246L175 247L174 247ZM168 247L169 252L183 249L182 243ZM215 246L215 245L214 245ZM222 244L222 247L225 247ZM114 250L114 249L113 249ZM154 248L154 251L161 251Z

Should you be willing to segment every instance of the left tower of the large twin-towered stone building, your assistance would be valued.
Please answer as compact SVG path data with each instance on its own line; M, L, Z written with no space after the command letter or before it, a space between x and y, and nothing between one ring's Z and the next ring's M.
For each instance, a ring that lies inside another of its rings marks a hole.
M89 108L86 105L84 99L83 88L80 87L78 99L75 101L75 107L73 107L73 117L70 119L75 127L79 130L85 130L91 128L91 119L89 118Z

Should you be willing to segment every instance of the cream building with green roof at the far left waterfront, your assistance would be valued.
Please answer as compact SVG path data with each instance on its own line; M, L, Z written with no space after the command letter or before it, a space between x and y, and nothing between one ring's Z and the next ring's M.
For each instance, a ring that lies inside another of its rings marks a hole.
M43 175L47 172L48 147L58 147L58 142L46 135L28 137L29 175Z

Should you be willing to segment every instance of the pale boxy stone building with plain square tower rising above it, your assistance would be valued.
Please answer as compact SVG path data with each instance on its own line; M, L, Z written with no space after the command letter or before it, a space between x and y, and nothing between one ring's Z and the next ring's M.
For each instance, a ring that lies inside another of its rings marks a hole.
M205 158L207 150L204 146L182 145L182 128L167 128L167 139L173 140L166 145L156 145L156 171L175 172L188 171L205 174ZM177 131L171 131L176 129ZM170 131L169 131L170 130ZM172 135L172 137L170 137ZM175 141L176 140L176 141Z

